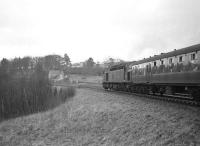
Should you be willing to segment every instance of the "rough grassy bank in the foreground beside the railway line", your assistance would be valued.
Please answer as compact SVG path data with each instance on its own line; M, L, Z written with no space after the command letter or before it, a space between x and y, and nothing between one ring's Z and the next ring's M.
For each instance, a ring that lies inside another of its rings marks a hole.
M77 89L59 107L0 123L0 146L197 146L200 108Z

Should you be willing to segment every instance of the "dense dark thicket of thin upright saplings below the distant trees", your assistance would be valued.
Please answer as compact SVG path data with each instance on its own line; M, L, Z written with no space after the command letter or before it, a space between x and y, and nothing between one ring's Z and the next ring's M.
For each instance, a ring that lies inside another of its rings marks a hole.
M28 78L0 78L0 121L46 111L75 95L73 87L52 88L45 72L34 72Z

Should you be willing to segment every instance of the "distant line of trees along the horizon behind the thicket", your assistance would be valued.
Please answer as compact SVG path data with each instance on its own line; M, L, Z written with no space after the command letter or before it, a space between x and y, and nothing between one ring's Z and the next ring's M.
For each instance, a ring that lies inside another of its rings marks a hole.
M63 57L53 54L44 57L16 57L11 60L3 58L0 66L2 72L15 73L18 75L30 74L37 65L40 65L46 72L50 70L62 70L65 74L102 75L105 68L121 62L124 61L121 59L108 58L100 63L95 62L92 57L89 57L82 62L82 66L74 67L72 66L70 57L65 53Z

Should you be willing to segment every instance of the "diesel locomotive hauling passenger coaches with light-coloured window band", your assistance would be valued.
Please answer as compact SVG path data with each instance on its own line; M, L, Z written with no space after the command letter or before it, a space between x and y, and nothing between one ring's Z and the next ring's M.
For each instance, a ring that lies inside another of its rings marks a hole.
M103 88L200 101L200 44L108 67Z

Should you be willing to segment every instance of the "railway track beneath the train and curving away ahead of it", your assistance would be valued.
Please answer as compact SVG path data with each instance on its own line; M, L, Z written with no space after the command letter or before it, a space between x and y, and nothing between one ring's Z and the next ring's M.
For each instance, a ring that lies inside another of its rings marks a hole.
M68 87L68 85L54 85L54 86L61 86L61 87ZM132 93L132 92L126 92L126 91L116 91L116 90L105 90L102 88L102 86L93 86L93 84L82 84L75 86L78 88L88 88L88 89L95 89L97 91L103 91L103 92L113 92L113 93L121 93L121 94L127 94L127 95L135 95L139 97L145 97L145 98L152 98L157 100L164 100L169 102L175 102L175 103L181 103L181 104L187 104L191 106L200 106L200 102L192 100L190 97L187 96L180 96L180 95L166 95L163 94L163 96L159 94L141 94L141 93Z

